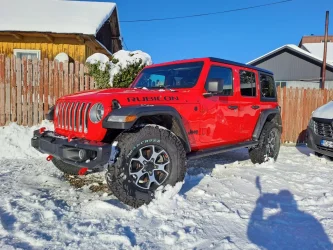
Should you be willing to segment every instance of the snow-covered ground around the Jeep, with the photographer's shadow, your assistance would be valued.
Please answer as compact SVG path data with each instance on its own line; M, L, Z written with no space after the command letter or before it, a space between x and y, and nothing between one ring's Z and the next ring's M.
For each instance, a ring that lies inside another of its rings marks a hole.
M71 186L32 130L0 127L0 249L332 249L333 162L305 147L190 161L178 194L132 209Z

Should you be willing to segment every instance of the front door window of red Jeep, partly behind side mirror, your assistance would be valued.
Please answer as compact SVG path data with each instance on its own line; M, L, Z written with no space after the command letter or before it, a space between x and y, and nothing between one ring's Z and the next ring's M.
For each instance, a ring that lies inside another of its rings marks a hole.
M218 95L232 96L233 95L233 77L232 70L230 68L224 68L220 66L210 67L205 89L208 90L208 82L218 83Z

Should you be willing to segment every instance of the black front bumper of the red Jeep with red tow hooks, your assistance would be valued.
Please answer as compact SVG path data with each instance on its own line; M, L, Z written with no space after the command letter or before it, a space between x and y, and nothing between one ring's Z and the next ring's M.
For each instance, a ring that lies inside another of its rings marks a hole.
M68 138L52 131L40 133L39 130L35 130L31 145L41 153L52 155L65 163L85 167L94 172L103 170L111 156L110 144L83 139L68 141ZM86 153L86 157L83 159L79 157L80 149Z

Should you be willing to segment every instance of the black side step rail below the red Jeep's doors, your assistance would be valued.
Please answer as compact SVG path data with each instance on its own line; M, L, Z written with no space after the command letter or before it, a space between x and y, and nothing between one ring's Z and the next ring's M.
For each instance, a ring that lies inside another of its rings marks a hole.
M187 154L188 159L197 159L205 156L210 156L210 155L215 155L215 154L220 154L224 153L227 151L232 151L235 149L240 149L240 148L246 148L246 147L254 147L258 145L258 142L256 141L247 141L239 144L233 144L233 145L226 145L226 146L220 146L216 148L209 148L209 149L203 149L195 152L190 152Z

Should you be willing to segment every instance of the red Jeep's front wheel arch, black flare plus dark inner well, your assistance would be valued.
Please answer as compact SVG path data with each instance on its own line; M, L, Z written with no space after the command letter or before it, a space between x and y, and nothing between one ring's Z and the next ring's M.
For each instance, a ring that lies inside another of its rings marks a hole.
M130 122L124 117L135 116ZM117 119L118 118L118 119ZM103 120L103 128L128 130L140 124L161 125L172 131L181 140L185 152L191 152L189 139L178 111L171 106L129 106L112 110Z

